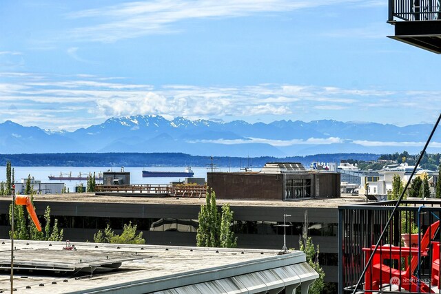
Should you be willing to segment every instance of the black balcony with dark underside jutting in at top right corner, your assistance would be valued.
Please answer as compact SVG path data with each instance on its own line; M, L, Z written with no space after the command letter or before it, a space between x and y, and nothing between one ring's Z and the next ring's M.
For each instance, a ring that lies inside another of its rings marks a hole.
M441 53L441 6L438 0L389 0L389 38Z

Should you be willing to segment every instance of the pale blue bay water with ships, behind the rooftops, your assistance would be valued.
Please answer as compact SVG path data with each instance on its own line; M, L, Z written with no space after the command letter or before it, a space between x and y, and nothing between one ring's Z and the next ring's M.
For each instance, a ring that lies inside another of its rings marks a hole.
M64 182L66 187L70 191L74 191L74 187L78 186L81 182L86 185L86 180L49 180L49 176L59 176L60 173L66 174L72 172L72 176L88 175L94 172L104 172L107 170L121 171L121 167L13 167L15 182L21 182L22 179L28 178L28 175L34 177L35 180L40 180L42 183L48 182ZM130 184L169 184L170 182L176 182L184 180L184 178L143 178L143 169L147 171L184 171L186 167L124 167L124 171L130 172ZM194 171L194 178L205 178L207 180L206 167L192 167ZM239 167L223 167L216 168L214 171L239 171ZM0 167L0 182L6 182L6 167ZM101 182L97 182L101 183Z

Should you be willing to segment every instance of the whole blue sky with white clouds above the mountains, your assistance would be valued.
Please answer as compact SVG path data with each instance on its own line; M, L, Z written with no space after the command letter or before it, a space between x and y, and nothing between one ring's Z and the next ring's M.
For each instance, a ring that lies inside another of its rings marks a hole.
M440 57L387 0L2 1L0 122L112 116L434 123Z

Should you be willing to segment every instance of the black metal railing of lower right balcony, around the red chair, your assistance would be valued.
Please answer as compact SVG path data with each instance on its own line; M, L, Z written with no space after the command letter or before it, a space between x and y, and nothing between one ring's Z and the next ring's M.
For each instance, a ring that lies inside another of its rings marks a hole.
M339 207L339 293L441 293L441 201L402 200L373 253L395 205L384 201ZM412 231L420 234L405 245L403 238Z

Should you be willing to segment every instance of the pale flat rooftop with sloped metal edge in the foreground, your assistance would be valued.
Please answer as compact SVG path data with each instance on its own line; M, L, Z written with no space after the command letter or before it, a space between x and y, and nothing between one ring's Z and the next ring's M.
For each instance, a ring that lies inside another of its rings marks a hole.
M0 293L9 293L11 240L0 243ZM301 251L27 240L14 248L17 293L266 293L318 277Z

